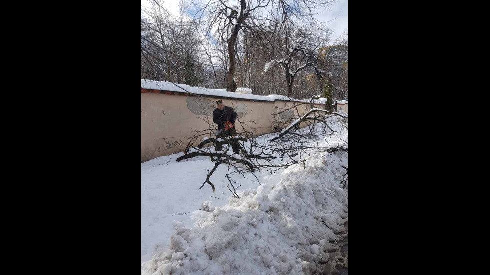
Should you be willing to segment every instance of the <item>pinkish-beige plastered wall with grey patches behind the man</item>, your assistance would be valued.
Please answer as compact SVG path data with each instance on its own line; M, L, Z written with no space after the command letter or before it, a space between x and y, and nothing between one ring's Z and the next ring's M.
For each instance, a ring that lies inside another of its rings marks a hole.
M252 132L255 136L274 132L274 114L293 107L286 101L229 100L211 96L190 96L184 93L141 89L141 163L159 156L182 152L196 131L209 129L215 101L221 99L224 105L233 107L238 114L235 122L238 133ZM301 114L310 109L309 104L298 107ZM324 108L317 105L316 108ZM296 111L286 111L282 117L295 115ZM193 132L194 131L194 132ZM210 135L202 136L211 137ZM202 139L197 140L195 145Z

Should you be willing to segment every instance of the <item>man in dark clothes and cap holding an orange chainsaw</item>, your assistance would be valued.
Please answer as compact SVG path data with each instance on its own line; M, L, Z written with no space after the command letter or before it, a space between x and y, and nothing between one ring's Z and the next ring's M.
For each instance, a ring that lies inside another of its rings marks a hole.
M222 100L216 101L216 104L218 107L212 113L212 119L214 123L218 125L218 132L216 132L216 136L218 138L235 136L236 135L235 127L232 127L228 131L225 131L225 124L226 122L231 122L231 124L234 126L238 115L236 114L233 108L224 106ZM233 152L235 154L239 154L240 144L238 143L238 141L231 140L230 143L231 143L231 147L233 148ZM221 151L222 148L223 148L222 145L216 145L216 151Z

